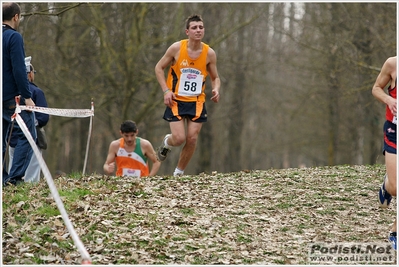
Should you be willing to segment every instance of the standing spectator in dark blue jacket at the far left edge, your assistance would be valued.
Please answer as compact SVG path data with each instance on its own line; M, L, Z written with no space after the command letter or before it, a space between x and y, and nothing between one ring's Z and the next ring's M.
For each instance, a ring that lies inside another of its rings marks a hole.
M9 131L15 132L18 142L15 146L14 163L9 172L3 161L3 186L22 182L26 168L32 157L32 147L22 132L18 123L11 121L15 112L15 97L20 98L20 104L34 106L29 82L26 75L25 49L22 35L17 32L21 19L21 8L17 3L2 3L3 7L3 159L7 151L7 136ZM21 111L19 114L36 138L33 112Z

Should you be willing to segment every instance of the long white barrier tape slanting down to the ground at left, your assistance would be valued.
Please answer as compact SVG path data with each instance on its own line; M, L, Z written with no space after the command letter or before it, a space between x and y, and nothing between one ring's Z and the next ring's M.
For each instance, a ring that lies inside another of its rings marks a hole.
M53 178L51 177L50 171L46 165L46 162L44 161L42 154L40 153L39 149L37 148L37 145L35 143L35 141L33 140L32 135L30 134L28 128L26 127L25 122L23 121L23 119L21 118L21 116L19 115L19 113L14 114L15 119L19 125L19 127L21 127L23 133L25 134L26 138L28 139L30 145L33 148L33 153L35 153L40 167L42 169L42 172L44 174L44 177L47 180L47 184L50 188L51 194L54 198L55 203L57 204L57 207L61 213L62 219L64 220L64 223L69 231L69 233L71 234L71 237L75 243L75 246L78 248L78 251L80 252L80 255L82 256L82 263L84 264L91 264L91 259L90 259L90 255L87 252L86 248L84 247L82 241L80 240L79 236L76 234L75 229L73 228L73 225L71 223L71 221L69 220L68 214L64 208L64 204L62 203L62 200L60 198L60 195L58 194L58 190L54 184Z

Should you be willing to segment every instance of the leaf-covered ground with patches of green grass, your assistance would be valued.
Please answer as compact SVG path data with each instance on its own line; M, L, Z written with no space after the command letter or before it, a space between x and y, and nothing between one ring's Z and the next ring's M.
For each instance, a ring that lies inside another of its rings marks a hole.
M384 168L55 183L93 264L309 264L310 243L387 243L396 199L378 207ZM81 263L44 179L7 186L2 197L3 264Z

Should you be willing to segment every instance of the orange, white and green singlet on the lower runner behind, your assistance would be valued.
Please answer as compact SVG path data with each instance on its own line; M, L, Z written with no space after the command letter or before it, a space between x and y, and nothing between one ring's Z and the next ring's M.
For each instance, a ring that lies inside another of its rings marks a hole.
M141 151L140 138L136 137L136 148L133 152L125 150L125 140L119 139L119 149L116 154L116 176L148 176L150 173L147 158Z

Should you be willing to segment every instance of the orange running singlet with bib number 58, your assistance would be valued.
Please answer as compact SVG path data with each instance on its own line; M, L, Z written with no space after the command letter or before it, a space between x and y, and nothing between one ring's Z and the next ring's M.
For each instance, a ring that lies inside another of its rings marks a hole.
M183 102L205 102L205 79L208 75L206 58L209 45L202 43L202 51L197 59L188 55L188 39L180 41L177 62L170 67L167 78L168 88Z

